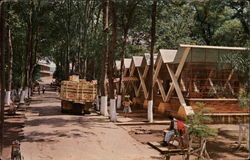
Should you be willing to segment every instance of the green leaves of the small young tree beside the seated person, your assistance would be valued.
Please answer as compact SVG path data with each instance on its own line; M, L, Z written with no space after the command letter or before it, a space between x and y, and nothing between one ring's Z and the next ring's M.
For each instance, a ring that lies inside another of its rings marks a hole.
M197 107L198 106L198 107ZM203 103L197 103L197 106L193 106L193 108L197 108L195 114L188 117L186 124L188 124L188 133L191 136L206 138L209 136L216 136L216 130L209 128L206 123L212 121L212 119L208 116L205 116L203 113L211 110L210 108L205 108Z

